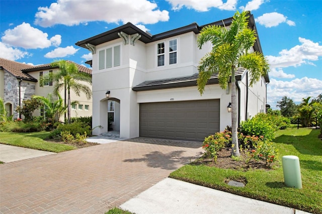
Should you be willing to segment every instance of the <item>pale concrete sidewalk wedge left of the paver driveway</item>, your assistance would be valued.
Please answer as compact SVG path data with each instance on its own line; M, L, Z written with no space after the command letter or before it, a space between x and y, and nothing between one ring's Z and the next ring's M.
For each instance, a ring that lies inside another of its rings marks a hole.
M28 158L41 157L50 154L56 153L0 144L0 161L5 163L24 160Z

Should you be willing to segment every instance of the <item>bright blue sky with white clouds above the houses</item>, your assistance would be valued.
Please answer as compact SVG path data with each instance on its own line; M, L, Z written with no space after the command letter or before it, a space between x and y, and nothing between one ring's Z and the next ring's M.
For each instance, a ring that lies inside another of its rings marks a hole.
M80 40L127 22L152 35L196 22L205 25L248 10L270 63L267 102L296 103L322 93L322 1L108 0L0 1L0 57L39 65L56 59L85 64Z

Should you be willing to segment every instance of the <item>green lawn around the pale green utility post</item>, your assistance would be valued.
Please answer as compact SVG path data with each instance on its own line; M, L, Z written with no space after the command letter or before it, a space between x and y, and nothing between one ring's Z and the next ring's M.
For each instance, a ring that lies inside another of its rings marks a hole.
M232 170L204 165L186 165L170 177L268 201L296 209L322 213L322 141L320 130L287 128L276 133L274 144L279 149L279 163L273 170ZM286 187L282 156L299 157L302 189ZM228 186L226 180L246 178L245 187ZM233 202L232 202L233 203Z

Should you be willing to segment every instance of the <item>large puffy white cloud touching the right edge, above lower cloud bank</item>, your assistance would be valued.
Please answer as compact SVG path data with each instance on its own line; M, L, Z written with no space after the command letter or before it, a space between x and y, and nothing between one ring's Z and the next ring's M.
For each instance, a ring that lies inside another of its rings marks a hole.
M310 61L316 61L322 56L322 46L301 37L298 40L302 43L301 45L280 51L280 56L267 56L271 68L300 66L301 64L314 65Z

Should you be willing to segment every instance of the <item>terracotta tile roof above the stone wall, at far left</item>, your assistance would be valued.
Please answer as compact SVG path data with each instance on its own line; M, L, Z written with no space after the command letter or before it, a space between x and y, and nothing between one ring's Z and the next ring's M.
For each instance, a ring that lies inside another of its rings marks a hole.
M27 65L24 63L20 62L15 62L12 60L0 58L0 67L11 73L17 78L22 78L25 80L30 80L30 81L37 81L34 77L30 76L28 73L24 73L21 70L22 69L27 69L27 68L32 68L32 65Z

